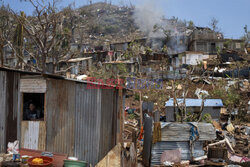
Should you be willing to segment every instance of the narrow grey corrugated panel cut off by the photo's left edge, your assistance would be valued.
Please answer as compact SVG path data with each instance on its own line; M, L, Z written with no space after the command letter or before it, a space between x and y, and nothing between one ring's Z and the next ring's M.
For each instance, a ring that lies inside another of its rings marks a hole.
M6 149L6 72L0 71L0 152Z

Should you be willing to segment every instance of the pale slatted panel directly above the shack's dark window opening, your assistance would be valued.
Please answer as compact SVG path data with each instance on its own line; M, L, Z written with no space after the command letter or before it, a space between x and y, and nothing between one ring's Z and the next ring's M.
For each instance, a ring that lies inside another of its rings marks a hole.
M25 93L45 93L47 90L46 80L42 78L21 79L20 91Z

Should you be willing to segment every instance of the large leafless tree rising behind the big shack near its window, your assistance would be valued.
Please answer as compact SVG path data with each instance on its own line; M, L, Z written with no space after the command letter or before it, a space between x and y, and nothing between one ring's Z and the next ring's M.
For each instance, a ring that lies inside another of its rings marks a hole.
M16 34L24 40L21 47L34 60L32 68L35 70L45 73L46 63L52 63L53 72L60 72L57 70L59 63L75 55L70 50L72 34L69 29L62 27L64 16L57 11L56 1L27 1L35 8L34 16L26 17L12 11L17 24L23 29L23 34ZM15 47L15 42L8 41L9 46L23 61L24 57Z

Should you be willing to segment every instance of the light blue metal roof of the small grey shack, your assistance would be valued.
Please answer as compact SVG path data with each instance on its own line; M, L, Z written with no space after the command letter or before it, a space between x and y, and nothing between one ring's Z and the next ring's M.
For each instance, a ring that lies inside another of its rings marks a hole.
M183 103L184 99L177 99L178 104ZM200 107L202 99L186 99L186 107ZM173 98L169 99L165 106L173 106ZM204 102L205 107L223 107L221 99L206 99Z

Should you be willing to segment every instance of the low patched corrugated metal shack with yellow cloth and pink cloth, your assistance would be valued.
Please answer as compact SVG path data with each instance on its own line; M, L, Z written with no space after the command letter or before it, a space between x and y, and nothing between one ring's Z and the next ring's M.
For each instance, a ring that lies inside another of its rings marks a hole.
M152 167L165 162L195 161L205 155L203 144L216 139L215 128L210 123L153 123L147 117L144 131L143 164Z

